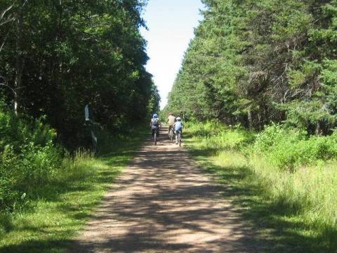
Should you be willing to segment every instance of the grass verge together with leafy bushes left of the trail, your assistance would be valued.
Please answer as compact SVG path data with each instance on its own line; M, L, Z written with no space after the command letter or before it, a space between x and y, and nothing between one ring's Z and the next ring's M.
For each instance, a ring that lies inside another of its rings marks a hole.
M100 153L69 154L40 121L0 112L0 252L66 252L144 140L100 131Z

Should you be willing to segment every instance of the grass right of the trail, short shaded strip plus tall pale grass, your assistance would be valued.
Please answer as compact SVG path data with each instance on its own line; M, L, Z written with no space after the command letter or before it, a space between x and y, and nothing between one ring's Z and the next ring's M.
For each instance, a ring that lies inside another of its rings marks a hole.
M217 137L190 134L187 128L185 146L205 171L225 186L224 197L256 232L250 240L259 252L337 252L336 222L324 220L329 207L323 206L330 204L334 212L333 198L330 202L324 198L335 190L335 162L281 171L262 157L247 157L231 148L233 140L216 145L211 138ZM318 196L314 195L318 192L315 186L324 193L318 200L314 199ZM322 205L314 205L315 201Z

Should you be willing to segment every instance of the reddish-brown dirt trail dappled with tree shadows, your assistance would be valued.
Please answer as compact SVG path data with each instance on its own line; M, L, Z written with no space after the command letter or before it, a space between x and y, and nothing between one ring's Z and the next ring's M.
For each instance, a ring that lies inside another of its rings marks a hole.
M161 134L114 182L71 252L255 252L222 190Z

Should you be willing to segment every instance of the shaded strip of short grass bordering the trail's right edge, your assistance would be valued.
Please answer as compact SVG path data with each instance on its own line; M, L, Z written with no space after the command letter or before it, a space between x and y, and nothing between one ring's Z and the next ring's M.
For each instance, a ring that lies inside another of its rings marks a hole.
M206 158L214 155L213 150L191 148L189 153L201 162L204 173L216 176L223 186L223 197L237 207L239 216L253 228L255 233L249 240L258 245L258 252L337 252L337 240L326 243L325 235L308 233L315 231L315 226L309 228L308 224L293 219L300 214L301 203L267 200L267 189L251 181L251 169L212 164ZM333 233L329 238L337 238L332 226L326 227L326 233Z

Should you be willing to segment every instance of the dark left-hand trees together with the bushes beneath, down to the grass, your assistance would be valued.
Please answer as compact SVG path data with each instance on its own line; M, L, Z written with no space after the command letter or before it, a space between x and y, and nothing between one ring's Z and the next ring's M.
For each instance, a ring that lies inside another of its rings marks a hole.
M112 147L158 110L140 35L145 4L0 1L0 220L55 180L71 182L92 139Z

